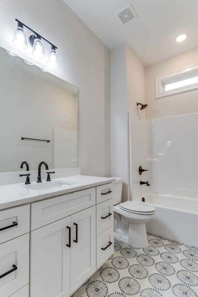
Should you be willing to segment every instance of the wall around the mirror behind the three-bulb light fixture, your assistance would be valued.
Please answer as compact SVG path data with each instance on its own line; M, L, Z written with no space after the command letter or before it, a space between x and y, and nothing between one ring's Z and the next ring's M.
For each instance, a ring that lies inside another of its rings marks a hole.
M12 44L15 18L58 47L50 69ZM86 175L110 176L110 51L62 0L2 0L0 46L79 88L78 165Z

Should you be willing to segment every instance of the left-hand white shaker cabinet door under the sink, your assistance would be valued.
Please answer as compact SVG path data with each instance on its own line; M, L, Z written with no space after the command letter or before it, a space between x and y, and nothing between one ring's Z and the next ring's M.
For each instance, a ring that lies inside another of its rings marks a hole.
M70 217L30 232L30 297L70 295Z

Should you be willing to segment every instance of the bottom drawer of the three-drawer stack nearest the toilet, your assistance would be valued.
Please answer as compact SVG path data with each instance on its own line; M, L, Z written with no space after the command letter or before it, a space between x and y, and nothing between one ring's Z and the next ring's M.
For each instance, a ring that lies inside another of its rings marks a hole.
M96 269L114 252L114 226L96 237Z

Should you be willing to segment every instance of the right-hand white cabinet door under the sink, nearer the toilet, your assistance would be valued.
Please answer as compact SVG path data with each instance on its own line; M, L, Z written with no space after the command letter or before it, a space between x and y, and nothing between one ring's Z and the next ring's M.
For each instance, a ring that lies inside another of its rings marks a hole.
M77 224L77 225L76 225ZM96 207L71 216L71 291L96 270ZM77 239L77 240L76 240ZM75 241L77 242L75 242Z

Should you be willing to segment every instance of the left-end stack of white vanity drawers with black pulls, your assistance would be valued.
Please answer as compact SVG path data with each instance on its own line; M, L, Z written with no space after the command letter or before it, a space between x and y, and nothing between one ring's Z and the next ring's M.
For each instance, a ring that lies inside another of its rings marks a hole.
M0 296L2 297L29 296L29 226L29 205L0 211Z

